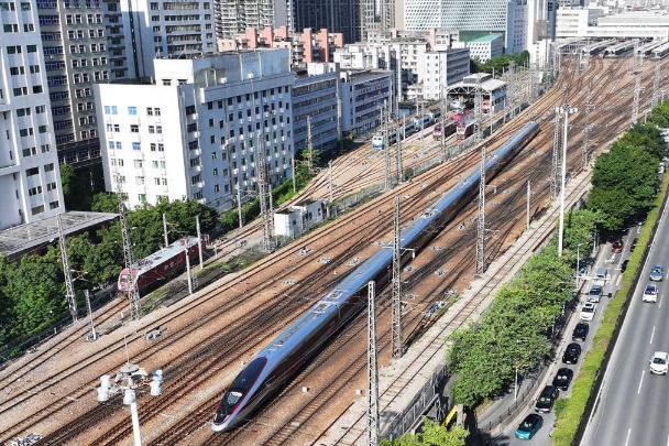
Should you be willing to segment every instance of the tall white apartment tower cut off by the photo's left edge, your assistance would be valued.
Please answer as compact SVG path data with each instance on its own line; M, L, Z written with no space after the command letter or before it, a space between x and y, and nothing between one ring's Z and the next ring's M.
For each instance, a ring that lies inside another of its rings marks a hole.
M0 3L0 229L65 211L37 10Z

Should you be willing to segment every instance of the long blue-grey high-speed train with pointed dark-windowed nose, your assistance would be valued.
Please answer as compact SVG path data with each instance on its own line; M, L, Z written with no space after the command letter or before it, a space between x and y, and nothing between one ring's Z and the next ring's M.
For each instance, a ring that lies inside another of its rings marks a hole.
M538 124L533 121L516 132L486 161L486 177L496 175L538 131ZM474 168L412 221L401 233L402 252L407 252L405 248L423 249L435 237L434 226L446 225L478 194L480 178L480 170ZM403 261L408 261L410 255L408 253ZM377 286L386 283L392 261L393 243L388 242L261 350L223 392L211 428L229 431L249 421L256 409L281 390L363 307L368 282L375 281Z

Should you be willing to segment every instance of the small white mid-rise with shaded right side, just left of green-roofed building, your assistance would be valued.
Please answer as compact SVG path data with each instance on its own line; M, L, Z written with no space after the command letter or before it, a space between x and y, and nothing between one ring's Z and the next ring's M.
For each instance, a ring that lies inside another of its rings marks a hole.
M470 50L467 47L423 53L418 62L423 98L441 99L446 86L459 83L469 75L469 63Z

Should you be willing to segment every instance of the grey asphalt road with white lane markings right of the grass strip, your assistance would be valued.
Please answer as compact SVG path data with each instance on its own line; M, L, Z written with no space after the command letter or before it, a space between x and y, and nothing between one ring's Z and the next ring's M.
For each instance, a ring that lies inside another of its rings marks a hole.
M639 247L640 248L640 247ZM669 351L668 278L650 282L654 264L669 264L667 211L638 283L603 384L581 442L583 446L659 446L669 444L669 377L649 373L654 351ZM656 283L657 303L641 302L644 289Z

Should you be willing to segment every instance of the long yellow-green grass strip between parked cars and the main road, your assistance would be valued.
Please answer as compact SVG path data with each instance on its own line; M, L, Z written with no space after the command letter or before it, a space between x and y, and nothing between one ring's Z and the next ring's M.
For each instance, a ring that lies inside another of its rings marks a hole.
M572 384L571 395L556 402L556 429L552 434L553 445L570 446L573 444L579 425L585 415L585 405L592 393L595 378L602 368L602 362L611 346L616 326L623 323L622 311L625 306L627 296L634 289L637 271L641 268L645 250L639 248L646 247L650 241L652 228L659 218L668 185L669 175L666 175L662 182L662 193L658 195L655 207L648 213L646 224L638 237L638 248L629 258L629 263L627 264L627 270L623 274L619 290L608 302L608 306L604 312L602 325L594 335L592 347L585 353L583 362L581 363L581 370Z

